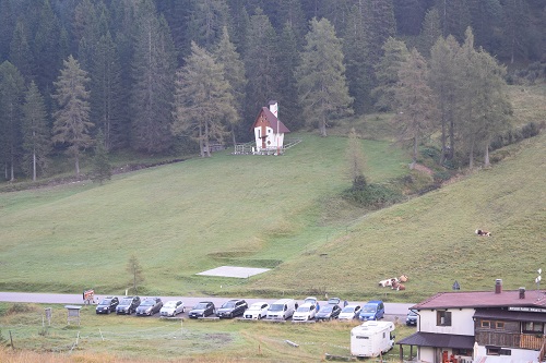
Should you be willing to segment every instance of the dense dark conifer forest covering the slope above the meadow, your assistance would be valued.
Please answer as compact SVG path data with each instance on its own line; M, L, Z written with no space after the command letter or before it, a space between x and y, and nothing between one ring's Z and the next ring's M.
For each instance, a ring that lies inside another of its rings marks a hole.
M394 112L414 148L488 162L506 85L545 75L544 0L0 0L0 165L246 142L275 99L292 130Z

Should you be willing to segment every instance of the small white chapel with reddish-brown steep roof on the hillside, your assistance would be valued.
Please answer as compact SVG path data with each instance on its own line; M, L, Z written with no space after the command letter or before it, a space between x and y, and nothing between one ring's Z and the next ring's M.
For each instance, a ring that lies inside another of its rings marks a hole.
M256 140L256 148L252 148L253 154L280 155L283 153L284 134L290 131L278 120L277 101L270 101L269 108L262 107L252 129Z

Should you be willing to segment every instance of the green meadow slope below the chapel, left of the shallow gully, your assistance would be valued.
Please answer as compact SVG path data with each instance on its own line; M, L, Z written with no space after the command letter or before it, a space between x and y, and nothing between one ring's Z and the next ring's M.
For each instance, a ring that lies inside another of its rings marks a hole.
M348 185L346 138L302 136L282 157L217 154L118 176L103 186L1 194L0 289L120 293L135 254L151 293L213 291L222 282L194 274L297 258L337 228L320 222L322 208ZM364 147L371 180L407 172L401 150L382 142Z

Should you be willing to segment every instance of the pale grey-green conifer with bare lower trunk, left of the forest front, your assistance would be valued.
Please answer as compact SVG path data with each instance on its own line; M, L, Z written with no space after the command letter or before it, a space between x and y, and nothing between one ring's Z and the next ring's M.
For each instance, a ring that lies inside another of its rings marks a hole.
M88 83L87 72L80 68L80 63L70 56L64 61L64 68L55 82L59 110L55 113L54 142L67 144L67 153L74 157L75 174L80 176L80 154L91 146L90 136L90 92L85 88Z

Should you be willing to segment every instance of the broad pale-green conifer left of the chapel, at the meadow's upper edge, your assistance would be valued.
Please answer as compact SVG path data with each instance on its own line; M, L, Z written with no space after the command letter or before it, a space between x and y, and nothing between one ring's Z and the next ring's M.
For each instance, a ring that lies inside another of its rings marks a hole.
M201 157L210 157L210 142L222 141L226 133L222 121L237 114L233 102L223 64L192 44L191 56L177 72L173 133L192 136Z

